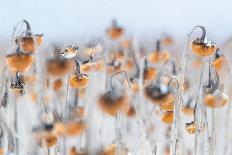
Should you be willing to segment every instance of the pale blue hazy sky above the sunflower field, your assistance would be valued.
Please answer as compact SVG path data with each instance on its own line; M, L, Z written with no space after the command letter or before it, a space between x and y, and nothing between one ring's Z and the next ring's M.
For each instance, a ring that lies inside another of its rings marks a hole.
M128 33L151 38L168 32L179 39L196 24L222 44L232 35L230 0L1 0L0 41L9 41L14 25L30 22L47 41L87 40L102 35L113 18Z

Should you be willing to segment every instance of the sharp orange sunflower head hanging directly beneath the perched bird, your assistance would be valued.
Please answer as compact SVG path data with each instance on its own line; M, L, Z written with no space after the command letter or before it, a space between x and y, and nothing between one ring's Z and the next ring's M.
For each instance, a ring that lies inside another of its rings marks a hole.
M77 89L86 88L88 83L89 78L86 74L73 75L69 79L70 86Z

